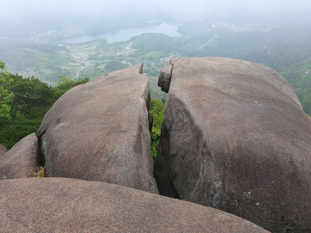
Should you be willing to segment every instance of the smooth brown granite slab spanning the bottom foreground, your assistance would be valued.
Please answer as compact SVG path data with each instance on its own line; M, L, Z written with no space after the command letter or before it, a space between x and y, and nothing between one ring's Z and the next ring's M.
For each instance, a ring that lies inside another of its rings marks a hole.
M1 232L268 233L220 210L104 182L1 180Z

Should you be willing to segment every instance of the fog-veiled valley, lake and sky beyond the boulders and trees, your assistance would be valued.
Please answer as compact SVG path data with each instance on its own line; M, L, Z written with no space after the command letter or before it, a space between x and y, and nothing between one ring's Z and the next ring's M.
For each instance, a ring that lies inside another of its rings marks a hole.
M92 79L144 63L151 97L161 100L166 60L230 57L280 72L311 114L311 0L7 0L0 7L0 60L12 74L57 85L59 75Z

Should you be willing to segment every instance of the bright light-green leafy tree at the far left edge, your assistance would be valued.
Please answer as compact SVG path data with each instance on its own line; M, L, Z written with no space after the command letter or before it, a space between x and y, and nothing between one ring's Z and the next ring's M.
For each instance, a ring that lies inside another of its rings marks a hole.
M0 60L0 120L10 119L10 104L13 103L14 94L10 91L13 79L5 68L5 62Z

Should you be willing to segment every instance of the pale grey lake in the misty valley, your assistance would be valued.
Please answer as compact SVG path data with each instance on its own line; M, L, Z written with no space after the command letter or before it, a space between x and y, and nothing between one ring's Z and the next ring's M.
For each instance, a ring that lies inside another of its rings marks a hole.
M168 36L180 36L179 32L177 31L177 26L160 24L156 26L150 25L143 28L127 28L115 32L99 34L96 36L84 35L72 39L64 39L58 43L84 43L99 38L107 38L108 43L114 43L115 41L129 40L132 36L137 36L145 32L163 33Z

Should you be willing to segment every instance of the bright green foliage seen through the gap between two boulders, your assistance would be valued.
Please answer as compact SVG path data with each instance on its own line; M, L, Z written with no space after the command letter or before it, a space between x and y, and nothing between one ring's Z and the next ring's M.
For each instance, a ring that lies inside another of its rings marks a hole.
M150 151L154 163L156 162L156 156L159 148L165 103L166 99L164 98L162 99L161 102L157 101L156 99L150 100L149 112L153 115Z

